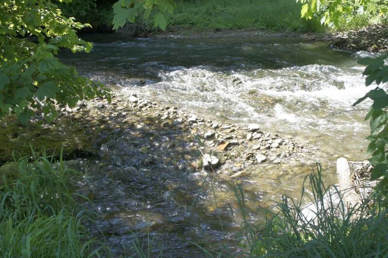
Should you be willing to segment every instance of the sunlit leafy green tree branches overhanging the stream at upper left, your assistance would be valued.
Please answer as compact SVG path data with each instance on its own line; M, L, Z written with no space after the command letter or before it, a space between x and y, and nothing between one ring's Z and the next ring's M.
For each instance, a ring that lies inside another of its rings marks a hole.
M61 48L92 49L76 33L85 26L63 16L49 0L0 2L0 117L13 113L27 123L39 109L51 120L56 105L75 107L81 99L109 97L102 84L79 76L56 57Z

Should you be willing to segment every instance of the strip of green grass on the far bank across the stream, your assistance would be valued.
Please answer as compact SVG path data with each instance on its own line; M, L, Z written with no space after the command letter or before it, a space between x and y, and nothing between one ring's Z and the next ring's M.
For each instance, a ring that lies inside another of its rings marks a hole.
M294 0L180 0L167 19L170 28L323 31L319 21L301 19L300 10Z

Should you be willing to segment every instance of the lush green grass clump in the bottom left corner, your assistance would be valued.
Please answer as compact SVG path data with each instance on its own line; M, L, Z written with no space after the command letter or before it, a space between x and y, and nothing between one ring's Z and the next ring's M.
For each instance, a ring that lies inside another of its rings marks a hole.
M101 257L106 251L84 226L90 212L79 209L69 190L77 172L51 161L20 159L0 175L1 257Z

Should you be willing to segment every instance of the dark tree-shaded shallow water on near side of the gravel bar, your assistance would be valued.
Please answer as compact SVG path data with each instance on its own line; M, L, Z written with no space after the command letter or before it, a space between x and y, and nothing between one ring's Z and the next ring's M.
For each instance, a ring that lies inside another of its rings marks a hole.
M46 146L48 153L67 146L66 164L81 170L80 193L92 201L85 205L101 214L91 230L108 240L115 256L123 254L123 246L131 250L135 236L148 234L156 243L152 253L162 249L163 257L201 257L192 242L214 251L228 242L231 253L240 253L237 203L216 209L210 187L211 179L217 193L232 193L234 182L212 173L206 177L191 126L162 120L155 110L136 112L127 100L114 98L112 104L92 101L51 124L32 121L24 127L8 118L0 130L17 132L5 134L4 144L21 156L28 155L29 143Z

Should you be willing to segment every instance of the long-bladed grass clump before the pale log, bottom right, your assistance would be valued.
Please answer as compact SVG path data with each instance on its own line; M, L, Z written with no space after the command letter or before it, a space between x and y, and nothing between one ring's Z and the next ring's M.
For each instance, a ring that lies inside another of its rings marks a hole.
M246 223L246 238L253 257L387 257L388 216L386 208L364 202L357 207L347 207L343 195L335 187L325 187L317 173L307 177L312 190L308 198L309 212L299 201L283 196L276 202L275 215L266 213L264 226ZM307 185L304 184L307 187ZM238 202L245 218L242 189L237 191ZM330 193L330 194L328 194Z

